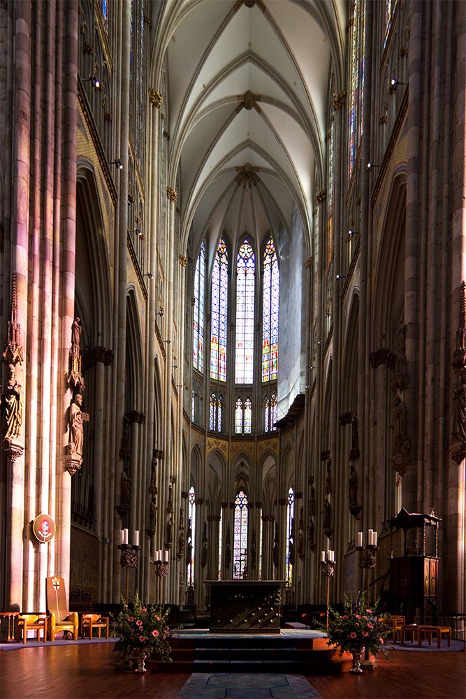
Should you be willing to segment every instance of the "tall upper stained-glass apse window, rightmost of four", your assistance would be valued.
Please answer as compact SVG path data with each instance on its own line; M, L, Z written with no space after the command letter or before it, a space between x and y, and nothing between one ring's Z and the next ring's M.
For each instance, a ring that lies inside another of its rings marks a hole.
M278 311L280 276L277 253L272 238L265 246L263 258L262 380L277 379Z

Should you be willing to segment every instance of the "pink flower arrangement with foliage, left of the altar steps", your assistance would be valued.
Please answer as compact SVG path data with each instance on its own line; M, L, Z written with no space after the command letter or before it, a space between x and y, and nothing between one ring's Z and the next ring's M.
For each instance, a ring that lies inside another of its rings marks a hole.
M152 650L159 653L162 661L171 662L170 629L166 623L168 612L158 605L146 605L136 590L131 609L122 596L123 611L117 617L110 616L110 633L118 638L114 651L117 661L128 658L132 651Z

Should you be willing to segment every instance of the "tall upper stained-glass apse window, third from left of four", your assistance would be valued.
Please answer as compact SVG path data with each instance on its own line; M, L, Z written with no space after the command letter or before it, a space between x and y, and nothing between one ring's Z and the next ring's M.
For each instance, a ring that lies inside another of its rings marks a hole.
M252 384L254 365L254 252L247 239L236 260L235 382Z

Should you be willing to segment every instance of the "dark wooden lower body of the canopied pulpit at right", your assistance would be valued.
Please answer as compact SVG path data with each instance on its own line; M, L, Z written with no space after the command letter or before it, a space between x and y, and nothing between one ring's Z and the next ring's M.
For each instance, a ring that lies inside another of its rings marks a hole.
M438 563L439 559L434 556L390 559L390 611L393 614L404 614L407 623L436 621Z

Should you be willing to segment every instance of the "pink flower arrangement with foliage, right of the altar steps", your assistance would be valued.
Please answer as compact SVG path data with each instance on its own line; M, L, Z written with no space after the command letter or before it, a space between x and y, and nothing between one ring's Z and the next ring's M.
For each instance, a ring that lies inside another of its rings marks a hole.
M330 607L328 628L321 625L327 635L327 644L338 646L340 655L344 651L349 653L361 653L365 648L373 654L383 653L388 658L390 645L386 644L391 628L386 623L387 614L379 614L377 606L373 607L365 602L364 593L356 603L344 596L344 613L340 614Z

